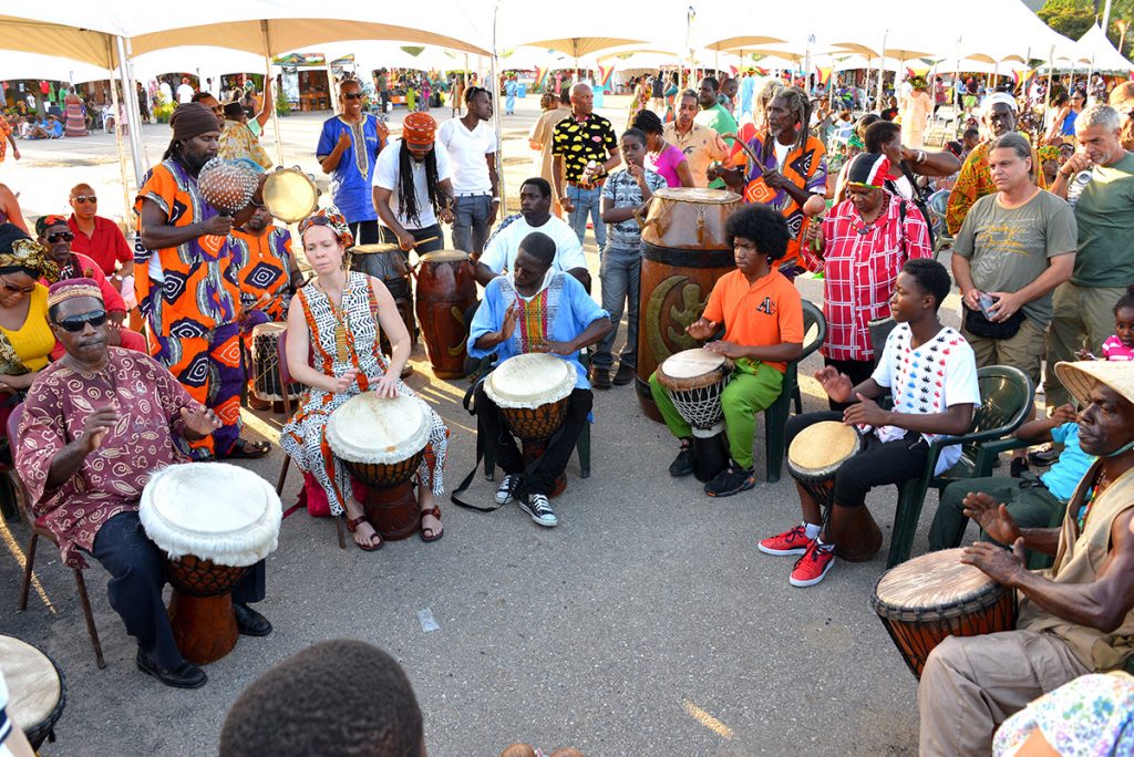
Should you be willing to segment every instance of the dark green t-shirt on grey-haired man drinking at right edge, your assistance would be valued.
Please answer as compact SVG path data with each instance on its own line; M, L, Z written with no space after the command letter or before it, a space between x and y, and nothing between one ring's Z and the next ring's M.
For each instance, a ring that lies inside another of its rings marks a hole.
M1083 287L1134 283L1134 154L1080 172L1067 188L1067 202L1078 221L1070 280Z

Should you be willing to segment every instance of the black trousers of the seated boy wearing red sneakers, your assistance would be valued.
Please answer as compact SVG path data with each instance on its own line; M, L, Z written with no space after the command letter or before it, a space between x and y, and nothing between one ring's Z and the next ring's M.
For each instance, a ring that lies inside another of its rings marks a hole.
M801 431L821 420L843 420L841 411L823 410L804 412L787 422L786 449ZM925 469L929 444L915 431L906 432L902 439L883 442L874 434L863 436L862 450L841 466L835 474L835 504L845 508L861 508L866 504L866 493L875 486L902 484L915 478Z

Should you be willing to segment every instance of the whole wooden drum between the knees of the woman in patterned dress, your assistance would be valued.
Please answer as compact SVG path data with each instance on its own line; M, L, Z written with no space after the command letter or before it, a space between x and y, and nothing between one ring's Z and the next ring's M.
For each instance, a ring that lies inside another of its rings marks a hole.
M383 539L412 536L421 525L413 475L429 444L430 419L413 397L363 392L327 422L327 443L358 483L366 518Z

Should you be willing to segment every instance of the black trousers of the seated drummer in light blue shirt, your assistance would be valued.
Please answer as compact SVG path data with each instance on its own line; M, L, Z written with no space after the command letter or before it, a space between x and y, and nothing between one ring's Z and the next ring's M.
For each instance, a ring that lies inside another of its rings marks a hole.
M548 446L540 465L521 486L521 495L548 495L555 490L556 479L567 469L567 461L583 433L586 417L591 414L594 394L590 389L576 389L567 400L567 418L564 420L559 439ZM524 456L500 416L500 408L484 393L484 384L476 388L476 419L485 434L485 444L496 452L497 465L508 475L524 471Z

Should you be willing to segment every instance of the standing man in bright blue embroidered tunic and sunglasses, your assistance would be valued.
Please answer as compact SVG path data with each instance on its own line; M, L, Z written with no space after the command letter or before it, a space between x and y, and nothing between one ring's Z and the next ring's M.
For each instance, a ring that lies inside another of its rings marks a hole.
M355 79L339 84L339 114L323 122L315 158L323 173L331 175L331 198L347 220L355 243L379 241L378 211L371 182L378 153L390 136L386 125L362 111L363 92Z

